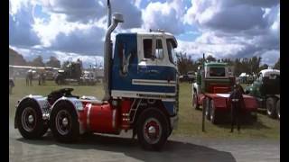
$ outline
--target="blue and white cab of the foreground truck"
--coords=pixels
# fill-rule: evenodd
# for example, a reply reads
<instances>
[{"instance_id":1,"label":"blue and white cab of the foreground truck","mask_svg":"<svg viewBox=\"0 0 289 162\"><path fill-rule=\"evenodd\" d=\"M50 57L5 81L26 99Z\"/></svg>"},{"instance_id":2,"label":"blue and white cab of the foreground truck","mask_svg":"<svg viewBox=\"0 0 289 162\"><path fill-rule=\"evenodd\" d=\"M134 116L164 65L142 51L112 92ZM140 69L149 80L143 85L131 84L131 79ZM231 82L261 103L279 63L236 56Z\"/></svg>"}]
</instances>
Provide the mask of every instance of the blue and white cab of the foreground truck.
<instances>
[{"instance_id":1,"label":"blue and white cab of the foreground truck","mask_svg":"<svg viewBox=\"0 0 289 162\"><path fill-rule=\"evenodd\" d=\"M167 32L117 35L111 75L111 96L162 100L173 115L177 109L177 42Z\"/></svg>"}]
</instances>

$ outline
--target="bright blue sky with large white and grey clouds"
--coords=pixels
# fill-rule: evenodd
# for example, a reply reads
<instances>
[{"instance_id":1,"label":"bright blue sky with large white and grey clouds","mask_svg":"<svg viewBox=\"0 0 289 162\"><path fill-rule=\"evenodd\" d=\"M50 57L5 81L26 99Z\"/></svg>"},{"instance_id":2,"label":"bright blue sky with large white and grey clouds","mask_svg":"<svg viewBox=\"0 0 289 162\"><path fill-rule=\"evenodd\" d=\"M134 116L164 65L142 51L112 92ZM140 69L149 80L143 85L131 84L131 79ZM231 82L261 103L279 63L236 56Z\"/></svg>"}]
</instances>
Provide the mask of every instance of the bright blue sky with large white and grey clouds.
<instances>
[{"instance_id":1,"label":"bright blue sky with large white and grey clouds","mask_svg":"<svg viewBox=\"0 0 289 162\"><path fill-rule=\"evenodd\" d=\"M110 0L119 32L163 29L196 59L280 57L280 0ZM107 0L9 0L9 47L32 60L80 58L103 65Z\"/></svg>"}]
</instances>

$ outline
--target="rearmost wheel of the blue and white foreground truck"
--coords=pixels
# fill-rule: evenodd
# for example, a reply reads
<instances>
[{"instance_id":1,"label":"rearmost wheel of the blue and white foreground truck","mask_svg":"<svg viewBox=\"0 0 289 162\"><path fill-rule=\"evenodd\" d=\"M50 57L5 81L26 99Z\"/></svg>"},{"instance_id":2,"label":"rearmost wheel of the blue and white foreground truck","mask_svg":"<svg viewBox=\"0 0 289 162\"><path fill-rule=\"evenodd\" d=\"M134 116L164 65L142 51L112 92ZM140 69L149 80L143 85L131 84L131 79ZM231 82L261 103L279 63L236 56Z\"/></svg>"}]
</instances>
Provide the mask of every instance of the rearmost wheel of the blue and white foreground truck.
<instances>
[{"instance_id":1,"label":"rearmost wheel of the blue and white foreground truck","mask_svg":"<svg viewBox=\"0 0 289 162\"><path fill-rule=\"evenodd\" d=\"M37 103L29 101L22 103L17 109L16 117L18 130L25 139L38 139L48 130Z\"/></svg>"}]
</instances>

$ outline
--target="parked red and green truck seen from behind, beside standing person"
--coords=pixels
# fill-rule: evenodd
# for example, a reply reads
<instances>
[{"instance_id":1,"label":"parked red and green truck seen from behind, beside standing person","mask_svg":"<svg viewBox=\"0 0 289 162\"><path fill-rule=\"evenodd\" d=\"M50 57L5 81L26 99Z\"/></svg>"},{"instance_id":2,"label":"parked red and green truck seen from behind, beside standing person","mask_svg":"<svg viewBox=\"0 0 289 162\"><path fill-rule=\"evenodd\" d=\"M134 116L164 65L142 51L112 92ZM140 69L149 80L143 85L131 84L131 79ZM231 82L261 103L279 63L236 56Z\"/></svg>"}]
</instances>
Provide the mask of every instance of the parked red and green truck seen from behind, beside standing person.
<instances>
[{"instance_id":1,"label":"parked red and green truck seen from behind, beside standing person","mask_svg":"<svg viewBox=\"0 0 289 162\"><path fill-rule=\"evenodd\" d=\"M230 119L228 96L235 84L235 77L229 74L227 63L205 62L198 67L196 83L192 84L192 106L199 109L202 105L206 118L214 124ZM255 98L247 94L243 94L243 97L245 109L242 114L256 120Z\"/></svg>"}]
</instances>

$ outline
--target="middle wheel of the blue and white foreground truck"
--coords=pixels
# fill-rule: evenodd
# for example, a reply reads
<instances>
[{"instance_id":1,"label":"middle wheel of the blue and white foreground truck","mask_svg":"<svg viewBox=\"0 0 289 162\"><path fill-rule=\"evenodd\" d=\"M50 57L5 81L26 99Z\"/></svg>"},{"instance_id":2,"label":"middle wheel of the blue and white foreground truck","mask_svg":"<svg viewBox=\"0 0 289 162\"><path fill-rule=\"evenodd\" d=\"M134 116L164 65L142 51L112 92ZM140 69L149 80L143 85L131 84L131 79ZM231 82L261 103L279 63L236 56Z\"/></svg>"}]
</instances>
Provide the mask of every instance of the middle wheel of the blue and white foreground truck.
<instances>
[{"instance_id":1,"label":"middle wheel of the blue and white foreground truck","mask_svg":"<svg viewBox=\"0 0 289 162\"><path fill-rule=\"evenodd\" d=\"M59 103L52 109L50 127L53 137L60 142L79 139L78 114L69 103Z\"/></svg>"}]
</instances>

